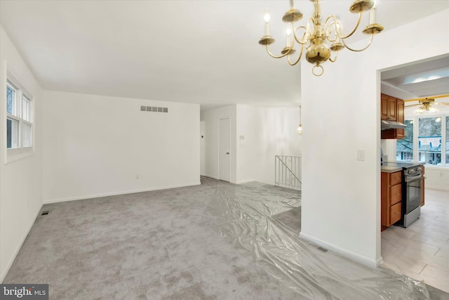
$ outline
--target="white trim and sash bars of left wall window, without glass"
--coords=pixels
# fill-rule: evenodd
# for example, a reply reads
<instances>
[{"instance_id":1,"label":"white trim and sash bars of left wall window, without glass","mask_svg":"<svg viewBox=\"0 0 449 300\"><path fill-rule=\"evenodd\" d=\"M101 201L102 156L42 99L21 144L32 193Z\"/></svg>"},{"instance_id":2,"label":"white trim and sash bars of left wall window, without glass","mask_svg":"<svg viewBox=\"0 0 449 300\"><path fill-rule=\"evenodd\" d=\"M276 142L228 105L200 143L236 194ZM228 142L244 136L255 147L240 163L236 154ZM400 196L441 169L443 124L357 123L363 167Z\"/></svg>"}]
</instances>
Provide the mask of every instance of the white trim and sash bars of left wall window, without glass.
<instances>
[{"instance_id":1,"label":"white trim and sash bars of left wall window, without glass","mask_svg":"<svg viewBox=\"0 0 449 300\"><path fill-rule=\"evenodd\" d=\"M8 69L6 68L6 62L5 62L5 69L6 69L6 80L3 82L3 84L1 84L1 89L3 91L3 95L4 95L4 99L1 102L1 105L3 105L3 107L5 108L5 113L1 118L1 122L4 122L4 164L9 164L11 162L16 162L20 159L25 159L26 157L30 157L32 155L34 155L35 153L35 144L36 144L36 138L34 135L35 132L35 105L34 105L34 96L32 95L32 93L29 93L29 91L27 89L25 89L25 87L20 84L20 80L16 79L16 77L14 77L13 74L11 74L11 72L8 72ZM4 74L5 74L4 73ZM10 81L11 84L13 84L13 86L15 86L16 88L16 93L18 93L18 95L16 95L16 103L15 103L15 110L17 113L17 116L15 115L11 115L8 114L8 112L6 112L6 84L7 82ZM29 100L30 104L32 105L32 122L27 122L24 119L22 119L22 95L25 94L25 96L27 97L27 99ZM11 118L11 119L15 119L18 120L20 122L19 124L19 148L7 148L7 143L6 143L6 119L7 118ZM22 147L22 126L23 124L31 124L32 125L32 145L30 147Z\"/></svg>"}]
</instances>

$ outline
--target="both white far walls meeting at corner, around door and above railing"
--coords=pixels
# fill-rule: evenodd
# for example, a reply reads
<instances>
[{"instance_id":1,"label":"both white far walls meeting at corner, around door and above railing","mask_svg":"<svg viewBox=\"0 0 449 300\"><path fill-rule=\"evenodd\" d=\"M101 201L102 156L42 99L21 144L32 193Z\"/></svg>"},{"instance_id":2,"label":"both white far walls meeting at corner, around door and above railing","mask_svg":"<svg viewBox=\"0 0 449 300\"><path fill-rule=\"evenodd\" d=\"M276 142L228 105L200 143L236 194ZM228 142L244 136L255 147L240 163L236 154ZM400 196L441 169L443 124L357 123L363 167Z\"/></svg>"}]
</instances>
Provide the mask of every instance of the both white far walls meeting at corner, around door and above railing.
<instances>
[{"instance_id":1,"label":"both white far walls meeting at corner, around door and above railing","mask_svg":"<svg viewBox=\"0 0 449 300\"><path fill-rule=\"evenodd\" d=\"M218 119L231 122L231 182L274 184L274 155L301 156L299 107L232 105L201 113L204 123L201 175L218 178Z\"/></svg>"}]
</instances>

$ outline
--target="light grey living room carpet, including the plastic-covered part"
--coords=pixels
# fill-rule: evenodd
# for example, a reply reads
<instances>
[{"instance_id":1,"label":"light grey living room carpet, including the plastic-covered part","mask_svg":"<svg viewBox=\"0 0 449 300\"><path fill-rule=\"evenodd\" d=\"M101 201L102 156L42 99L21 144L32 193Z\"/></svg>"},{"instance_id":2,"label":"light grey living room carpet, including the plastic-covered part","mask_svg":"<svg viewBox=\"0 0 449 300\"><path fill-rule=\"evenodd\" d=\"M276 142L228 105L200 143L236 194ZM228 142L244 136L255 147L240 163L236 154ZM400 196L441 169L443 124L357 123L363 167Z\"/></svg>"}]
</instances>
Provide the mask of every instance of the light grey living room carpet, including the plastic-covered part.
<instances>
[{"instance_id":1,"label":"light grey living room carpet, including the plastic-covered part","mask_svg":"<svg viewBox=\"0 0 449 300\"><path fill-rule=\"evenodd\" d=\"M48 283L50 299L428 297L420 282L320 252L272 218L300 206L297 191L201 182L46 204L4 283Z\"/></svg>"}]
</instances>

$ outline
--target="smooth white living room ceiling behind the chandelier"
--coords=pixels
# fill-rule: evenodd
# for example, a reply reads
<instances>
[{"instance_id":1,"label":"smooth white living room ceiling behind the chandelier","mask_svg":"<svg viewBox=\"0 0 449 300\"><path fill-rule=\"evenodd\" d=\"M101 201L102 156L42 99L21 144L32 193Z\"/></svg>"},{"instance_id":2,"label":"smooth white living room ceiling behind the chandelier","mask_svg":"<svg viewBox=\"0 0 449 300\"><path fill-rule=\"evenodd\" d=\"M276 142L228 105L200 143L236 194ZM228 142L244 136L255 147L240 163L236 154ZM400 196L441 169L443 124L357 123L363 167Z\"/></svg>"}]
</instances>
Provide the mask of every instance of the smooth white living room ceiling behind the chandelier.
<instances>
[{"instance_id":1,"label":"smooth white living room ceiling behind the chandelier","mask_svg":"<svg viewBox=\"0 0 449 300\"><path fill-rule=\"evenodd\" d=\"M310 1L295 3L311 15ZM322 1L323 16L335 13L349 29L351 3ZM43 89L200 103L201 110L297 105L300 67L257 44L266 8L279 52L287 0L1 0L0 23ZM378 1L377 22L389 30L447 8L449 1Z\"/></svg>"}]
</instances>

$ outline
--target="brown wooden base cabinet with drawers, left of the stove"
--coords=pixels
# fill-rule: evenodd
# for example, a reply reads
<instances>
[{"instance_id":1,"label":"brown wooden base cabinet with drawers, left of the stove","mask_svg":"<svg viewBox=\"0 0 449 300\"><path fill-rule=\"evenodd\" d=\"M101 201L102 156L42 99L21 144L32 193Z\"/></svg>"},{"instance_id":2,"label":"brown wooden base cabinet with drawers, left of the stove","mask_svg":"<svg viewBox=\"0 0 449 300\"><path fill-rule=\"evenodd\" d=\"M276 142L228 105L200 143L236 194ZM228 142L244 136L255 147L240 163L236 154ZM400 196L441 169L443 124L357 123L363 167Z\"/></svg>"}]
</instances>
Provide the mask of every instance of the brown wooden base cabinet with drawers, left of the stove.
<instances>
[{"instance_id":1,"label":"brown wooden base cabinet with drawers, left of the stove","mask_svg":"<svg viewBox=\"0 0 449 300\"><path fill-rule=\"evenodd\" d=\"M380 223L381 230L401 220L402 172L381 173Z\"/></svg>"}]
</instances>

